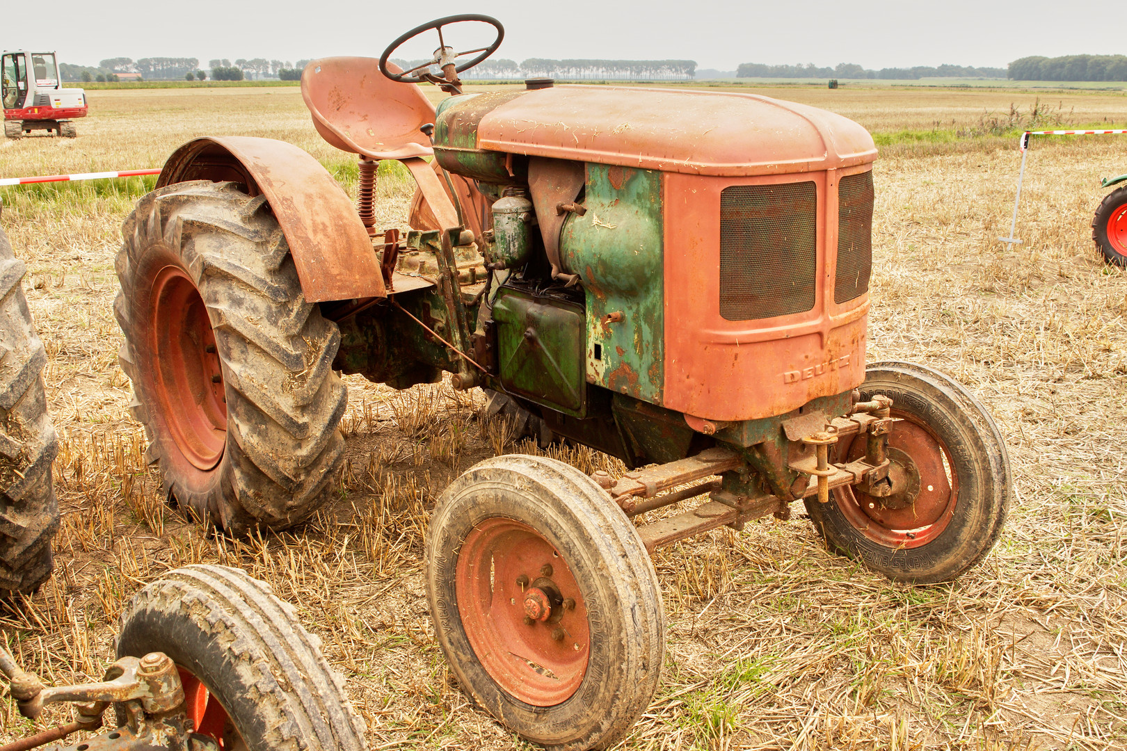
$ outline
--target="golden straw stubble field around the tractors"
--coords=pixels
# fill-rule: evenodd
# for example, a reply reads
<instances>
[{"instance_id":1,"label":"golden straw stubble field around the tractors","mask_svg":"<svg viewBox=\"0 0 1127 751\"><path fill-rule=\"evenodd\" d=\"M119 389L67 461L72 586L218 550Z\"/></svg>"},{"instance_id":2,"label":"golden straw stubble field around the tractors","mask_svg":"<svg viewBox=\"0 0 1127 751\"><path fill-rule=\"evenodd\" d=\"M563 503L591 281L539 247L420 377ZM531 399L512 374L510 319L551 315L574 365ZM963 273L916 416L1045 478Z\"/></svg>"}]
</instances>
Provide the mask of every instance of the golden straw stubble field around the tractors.
<instances>
[{"instance_id":1,"label":"golden straw stubble field around the tractors","mask_svg":"<svg viewBox=\"0 0 1127 751\"><path fill-rule=\"evenodd\" d=\"M854 117L888 144L876 168L869 357L940 368L978 395L1009 445L1013 506L983 565L940 587L891 584L829 555L801 515L658 553L663 685L624 748L1127 746L1127 275L1099 261L1089 229L1098 178L1127 171L1127 138L1035 142L1024 243L1006 247L996 238L1009 229L1017 140L992 135L983 115L1004 118L1013 92L763 91ZM355 188L352 159L318 138L295 90L90 98L77 140L0 143L0 175L159 166L192 136L247 134L296 143ZM1062 124L1127 119L1122 95L1053 104ZM0 194L50 356L63 509L56 574L5 606L5 638L47 680L100 678L134 591L183 564L237 565L320 635L373 749L522 746L458 690L420 572L445 484L486 456L535 449L479 421L480 396L349 377L331 508L243 540L187 524L143 464L116 359L118 227L147 185ZM382 176L381 225L403 222L409 189ZM565 458L621 470L585 449ZM29 731L10 703L0 709L3 737Z\"/></svg>"}]
</instances>

